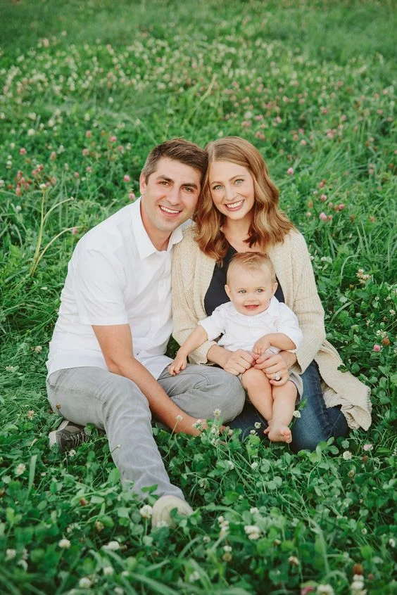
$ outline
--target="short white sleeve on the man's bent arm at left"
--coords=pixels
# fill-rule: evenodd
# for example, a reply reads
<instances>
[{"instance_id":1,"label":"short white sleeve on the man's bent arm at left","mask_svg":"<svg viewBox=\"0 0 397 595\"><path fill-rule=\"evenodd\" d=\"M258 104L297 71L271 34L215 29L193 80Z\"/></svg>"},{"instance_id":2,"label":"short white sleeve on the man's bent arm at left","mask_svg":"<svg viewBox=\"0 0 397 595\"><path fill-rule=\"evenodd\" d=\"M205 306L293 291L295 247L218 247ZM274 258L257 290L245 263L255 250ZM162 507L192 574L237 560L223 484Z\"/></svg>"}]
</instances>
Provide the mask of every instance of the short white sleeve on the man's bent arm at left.
<instances>
[{"instance_id":1,"label":"short white sleeve on the man's bent arm at left","mask_svg":"<svg viewBox=\"0 0 397 595\"><path fill-rule=\"evenodd\" d=\"M80 323L128 324L121 264L98 250L84 250L75 263L73 293Z\"/></svg>"}]
</instances>

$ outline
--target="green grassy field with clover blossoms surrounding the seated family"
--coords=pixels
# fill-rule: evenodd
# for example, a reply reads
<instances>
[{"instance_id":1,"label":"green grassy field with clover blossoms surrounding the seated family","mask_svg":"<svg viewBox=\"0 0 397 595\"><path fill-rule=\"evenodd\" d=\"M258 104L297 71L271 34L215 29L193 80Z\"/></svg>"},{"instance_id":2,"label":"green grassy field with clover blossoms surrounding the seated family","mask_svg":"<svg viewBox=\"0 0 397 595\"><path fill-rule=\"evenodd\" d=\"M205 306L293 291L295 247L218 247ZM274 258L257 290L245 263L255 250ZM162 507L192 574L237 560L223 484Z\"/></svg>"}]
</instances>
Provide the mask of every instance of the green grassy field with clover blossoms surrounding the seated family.
<instances>
[{"instance_id":1,"label":"green grassy field with clover blossoms surrounding the seated family","mask_svg":"<svg viewBox=\"0 0 397 595\"><path fill-rule=\"evenodd\" d=\"M2 593L397 593L396 20L382 0L0 0ZM308 242L373 423L298 455L155 428L196 513L151 530L94 428L49 451L47 346L75 244L148 151L229 134Z\"/></svg>"}]
</instances>

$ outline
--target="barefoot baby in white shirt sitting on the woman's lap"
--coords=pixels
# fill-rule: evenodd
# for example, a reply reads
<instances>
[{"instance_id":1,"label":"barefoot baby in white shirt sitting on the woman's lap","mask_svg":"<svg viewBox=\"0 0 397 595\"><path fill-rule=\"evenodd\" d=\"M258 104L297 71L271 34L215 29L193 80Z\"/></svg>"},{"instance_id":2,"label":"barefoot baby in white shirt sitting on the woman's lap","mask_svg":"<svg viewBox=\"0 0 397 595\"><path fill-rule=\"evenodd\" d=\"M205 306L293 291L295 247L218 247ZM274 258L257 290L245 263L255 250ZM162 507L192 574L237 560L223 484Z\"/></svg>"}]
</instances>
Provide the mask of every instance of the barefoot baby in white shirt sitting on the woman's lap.
<instances>
[{"instance_id":1,"label":"barefoot baby in white shirt sitting on the woman's lap","mask_svg":"<svg viewBox=\"0 0 397 595\"><path fill-rule=\"evenodd\" d=\"M230 351L244 349L258 359L266 352L296 352L302 333L294 312L274 297L277 289L275 269L267 255L238 252L227 269L226 293L230 302L218 306L179 348L169 371L172 376L187 365L189 353L206 340L215 340ZM291 442L289 429L302 380L291 372L287 380L272 385L265 371L251 367L241 376L251 403L267 420L265 433L274 442ZM280 380L279 374L271 375Z\"/></svg>"}]
</instances>

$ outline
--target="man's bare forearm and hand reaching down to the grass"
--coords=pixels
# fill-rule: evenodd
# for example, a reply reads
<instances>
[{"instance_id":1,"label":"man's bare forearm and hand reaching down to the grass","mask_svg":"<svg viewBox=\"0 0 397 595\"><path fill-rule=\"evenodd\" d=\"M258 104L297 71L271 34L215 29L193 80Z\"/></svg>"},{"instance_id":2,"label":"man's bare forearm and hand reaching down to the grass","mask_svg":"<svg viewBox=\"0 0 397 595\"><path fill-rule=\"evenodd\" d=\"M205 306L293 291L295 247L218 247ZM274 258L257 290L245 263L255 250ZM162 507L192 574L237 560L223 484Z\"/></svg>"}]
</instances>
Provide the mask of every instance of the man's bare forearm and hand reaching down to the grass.
<instances>
[{"instance_id":1,"label":"man's bare forearm and hand reaching down to the grass","mask_svg":"<svg viewBox=\"0 0 397 595\"><path fill-rule=\"evenodd\" d=\"M168 428L175 428L175 432L191 435L200 433L192 426L196 423L196 418L179 409L145 366L134 358L132 334L128 324L92 326L92 328L108 370L130 378L148 399L149 407L156 418L165 423ZM182 420L178 421L177 416L181 416Z\"/></svg>"}]
</instances>

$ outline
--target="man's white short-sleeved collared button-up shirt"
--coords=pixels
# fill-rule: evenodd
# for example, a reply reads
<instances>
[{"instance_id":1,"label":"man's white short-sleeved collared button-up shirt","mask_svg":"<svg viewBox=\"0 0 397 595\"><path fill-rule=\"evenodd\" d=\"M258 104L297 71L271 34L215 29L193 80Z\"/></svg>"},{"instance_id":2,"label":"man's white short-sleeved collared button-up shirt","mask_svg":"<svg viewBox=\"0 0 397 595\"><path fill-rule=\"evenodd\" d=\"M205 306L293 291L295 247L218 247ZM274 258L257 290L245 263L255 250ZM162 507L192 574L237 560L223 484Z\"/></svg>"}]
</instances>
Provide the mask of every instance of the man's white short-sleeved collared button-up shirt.
<instances>
[{"instance_id":1,"label":"man's white short-sleeved collared button-up shirt","mask_svg":"<svg viewBox=\"0 0 397 595\"><path fill-rule=\"evenodd\" d=\"M129 324L134 357L158 378L172 362L165 357L172 332L172 246L182 228L159 252L144 229L141 199L88 231L68 264L58 321L46 363L63 368L107 369L92 325Z\"/></svg>"}]
</instances>

